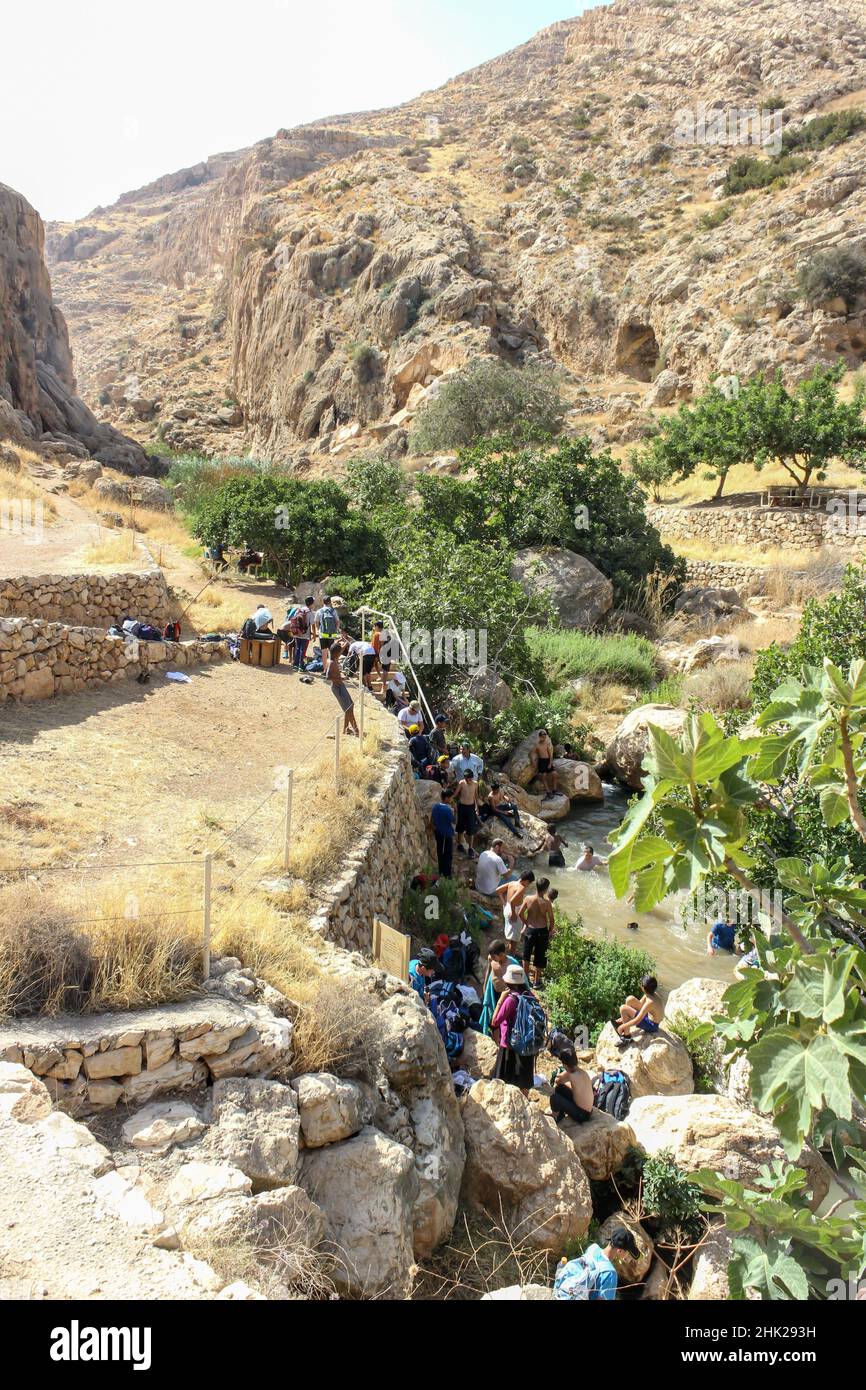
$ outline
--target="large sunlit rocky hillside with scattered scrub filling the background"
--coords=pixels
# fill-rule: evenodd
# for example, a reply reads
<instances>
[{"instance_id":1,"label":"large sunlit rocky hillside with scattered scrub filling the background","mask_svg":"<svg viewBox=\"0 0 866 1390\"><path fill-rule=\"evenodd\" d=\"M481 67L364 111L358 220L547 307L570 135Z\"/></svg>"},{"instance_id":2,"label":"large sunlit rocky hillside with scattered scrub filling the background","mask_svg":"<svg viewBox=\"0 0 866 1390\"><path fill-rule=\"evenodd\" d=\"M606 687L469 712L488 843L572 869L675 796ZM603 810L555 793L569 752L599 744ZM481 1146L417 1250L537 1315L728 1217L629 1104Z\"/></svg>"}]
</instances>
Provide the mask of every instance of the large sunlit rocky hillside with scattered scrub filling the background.
<instances>
[{"instance_id":1,"label":"large sunlit rocky hillside with scattered scrub filling the background","mask_svg":"<svg viewBox=\"0 0 866 1390\"><path fill-rule=\"evenodd\" d=\"M85 396L146 442L331 467L405 453L478 353L559 363L570 425L612 443L720 371L859 367L858 303L808 306L796 272L863 242L866 129L727 196L730 164L769 154L708 140L701 113L795 132L860 107L858 0L614 0L51 227Z\"/></svg>"}]
</instances>

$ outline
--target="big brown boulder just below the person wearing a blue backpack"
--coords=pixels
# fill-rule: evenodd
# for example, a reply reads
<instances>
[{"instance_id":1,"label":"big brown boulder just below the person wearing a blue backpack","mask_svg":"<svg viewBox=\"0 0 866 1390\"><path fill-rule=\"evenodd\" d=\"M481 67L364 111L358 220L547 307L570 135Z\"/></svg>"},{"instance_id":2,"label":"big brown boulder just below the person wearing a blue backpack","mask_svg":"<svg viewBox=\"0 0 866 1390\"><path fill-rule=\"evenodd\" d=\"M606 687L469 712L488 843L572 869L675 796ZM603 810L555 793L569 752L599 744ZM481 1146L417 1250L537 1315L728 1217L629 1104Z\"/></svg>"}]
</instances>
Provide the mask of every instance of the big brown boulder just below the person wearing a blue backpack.
<instances>
[{"instance_id":1,"label":"big brown boulder just below the person wearing a blue backpack","mask_svg":"<svg viewBox=\"0 0 866 1390\"><path fill-rule=\"evenodd\" d=\"M477 1081L461 1102L463 1198L505 1213L514 1238L562 1254L592 1218L589 1182L574 1145L516 1086Z\"/></svg>"}]
</instances>

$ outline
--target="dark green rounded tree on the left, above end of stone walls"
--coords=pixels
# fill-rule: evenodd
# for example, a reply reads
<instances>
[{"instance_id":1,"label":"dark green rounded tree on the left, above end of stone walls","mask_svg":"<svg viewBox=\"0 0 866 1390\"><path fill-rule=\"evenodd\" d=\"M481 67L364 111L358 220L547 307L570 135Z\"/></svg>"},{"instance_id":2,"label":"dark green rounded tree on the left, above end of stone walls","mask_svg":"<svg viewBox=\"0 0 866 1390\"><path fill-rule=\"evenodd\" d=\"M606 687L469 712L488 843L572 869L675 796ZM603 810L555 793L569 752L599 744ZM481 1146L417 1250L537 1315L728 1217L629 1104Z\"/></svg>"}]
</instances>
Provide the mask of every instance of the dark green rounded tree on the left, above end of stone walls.
<instances>
[{"instance_id":1,"label":"dark green rounded tree on the left, above end of stone walls","mask_svg":"<svg viewBox=\"0 0 866 1390\"><path fill-rule=\"evenodd\" d=\"M349 506L336 482L303 482L278 474L229 478L200 499L193 535L204 545L261 550L264 566L284 584L334 570L377 573L384 566L375 528Z\"/></svg>"}]
</instances>

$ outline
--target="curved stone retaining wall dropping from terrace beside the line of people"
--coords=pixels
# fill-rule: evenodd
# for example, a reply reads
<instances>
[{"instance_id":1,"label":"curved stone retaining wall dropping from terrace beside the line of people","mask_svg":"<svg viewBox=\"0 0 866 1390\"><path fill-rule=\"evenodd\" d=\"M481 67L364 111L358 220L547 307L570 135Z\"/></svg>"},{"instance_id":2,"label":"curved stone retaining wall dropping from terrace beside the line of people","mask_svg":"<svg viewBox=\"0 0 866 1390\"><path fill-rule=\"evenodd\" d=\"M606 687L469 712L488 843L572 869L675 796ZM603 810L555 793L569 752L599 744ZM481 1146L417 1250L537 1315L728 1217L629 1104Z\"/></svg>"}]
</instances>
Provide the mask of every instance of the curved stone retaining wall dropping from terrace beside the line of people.
<instances>
[{"instance_id":1,"label":"curved stone retaining wall dropping from terrace beside the line of people","mask_svg":"<svg viewBox=\"0 0 866 1390\"><path fill-rule=\"evenodd\" d=\"M382 783L370 799L370 826L345 855L339 878L322 888L325 906L310 923L350 951L370 951L374 916L399 927L406 877L430 858L406 735L384 712L381 730Z\"/></svg>"}]
</instances>

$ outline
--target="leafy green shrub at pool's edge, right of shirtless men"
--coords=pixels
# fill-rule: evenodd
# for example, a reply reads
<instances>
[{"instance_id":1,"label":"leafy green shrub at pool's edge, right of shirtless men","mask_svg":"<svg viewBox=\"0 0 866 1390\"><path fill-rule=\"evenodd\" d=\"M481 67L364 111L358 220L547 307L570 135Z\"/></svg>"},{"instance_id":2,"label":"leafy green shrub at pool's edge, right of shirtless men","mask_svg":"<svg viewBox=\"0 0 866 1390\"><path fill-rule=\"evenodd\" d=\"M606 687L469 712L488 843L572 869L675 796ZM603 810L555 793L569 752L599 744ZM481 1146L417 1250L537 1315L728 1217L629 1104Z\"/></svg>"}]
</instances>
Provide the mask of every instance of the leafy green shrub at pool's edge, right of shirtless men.
<instances>
[{"instance_id":1,"label":"leafy green shrub at pool's edge, right of shirtless men","mask_svg":"<svg viewBox=\"0 0 866 1390\"><path fill-rule=\"evenodd\" d=\"M653 972L655 960L645 951L607 938L595 941L580 917L557 913L542 991L550 1022L567 1033L585 1024L589 1041L596 1042L626 998L641 994L641 977Z\"/></svg>"}]
</instances>

